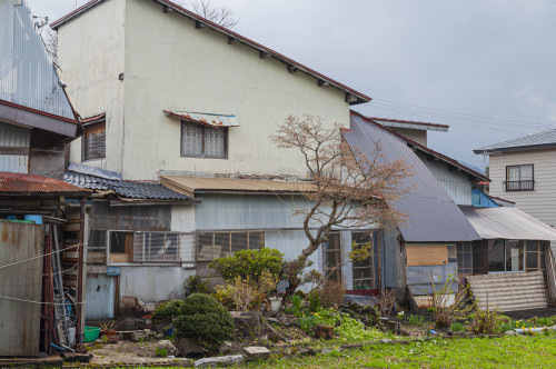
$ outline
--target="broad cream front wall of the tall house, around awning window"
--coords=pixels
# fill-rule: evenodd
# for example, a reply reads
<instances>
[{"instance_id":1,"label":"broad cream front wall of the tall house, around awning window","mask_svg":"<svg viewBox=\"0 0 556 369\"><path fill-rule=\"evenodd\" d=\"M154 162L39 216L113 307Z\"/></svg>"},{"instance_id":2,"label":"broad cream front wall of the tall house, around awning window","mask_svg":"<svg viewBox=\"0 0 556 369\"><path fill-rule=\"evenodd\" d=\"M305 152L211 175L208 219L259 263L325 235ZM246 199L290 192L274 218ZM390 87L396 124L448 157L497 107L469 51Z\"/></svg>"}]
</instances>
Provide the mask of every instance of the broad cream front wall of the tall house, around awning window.
<instances>
[{"instance_id":1,"label":"broad cream front wall of the tall house, around awning window","mask_svg":"<svg viewBox=\"0 0 556 369\"><path fill-rule=\"evenodd\" d=\"M198 30L152 1L128 0L126 10L126 179L156 179L159 170L305 176L295 152L271 144L276 124L305 112L348 123L338 89L290 74L284 63L230 46L226 36ZM180 121L163 109L236 114L240 127L229 129L228 159L181 158Z\"/></svg>"}]
</instances>

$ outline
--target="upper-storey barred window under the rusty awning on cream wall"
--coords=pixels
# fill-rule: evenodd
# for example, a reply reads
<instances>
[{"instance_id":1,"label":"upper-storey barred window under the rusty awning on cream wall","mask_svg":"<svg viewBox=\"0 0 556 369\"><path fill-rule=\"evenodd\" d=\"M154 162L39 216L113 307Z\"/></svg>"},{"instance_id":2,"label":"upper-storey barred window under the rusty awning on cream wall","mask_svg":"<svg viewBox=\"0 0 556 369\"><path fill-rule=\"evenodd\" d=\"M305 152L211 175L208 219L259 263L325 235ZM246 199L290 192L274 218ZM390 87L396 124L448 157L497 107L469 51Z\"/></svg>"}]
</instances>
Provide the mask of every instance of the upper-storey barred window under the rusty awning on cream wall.
<instances>
[{"instance_id":1,"label":"upper-storey barred window under the rusty awning on cream wall","mask_svg":"<svg viewBox=\"0 0 556 369\"><path fill-rule=\"evenodd\" d=\"M228 158L228 128L181 121L181 156Z\"/></svg>"}]
</instances>

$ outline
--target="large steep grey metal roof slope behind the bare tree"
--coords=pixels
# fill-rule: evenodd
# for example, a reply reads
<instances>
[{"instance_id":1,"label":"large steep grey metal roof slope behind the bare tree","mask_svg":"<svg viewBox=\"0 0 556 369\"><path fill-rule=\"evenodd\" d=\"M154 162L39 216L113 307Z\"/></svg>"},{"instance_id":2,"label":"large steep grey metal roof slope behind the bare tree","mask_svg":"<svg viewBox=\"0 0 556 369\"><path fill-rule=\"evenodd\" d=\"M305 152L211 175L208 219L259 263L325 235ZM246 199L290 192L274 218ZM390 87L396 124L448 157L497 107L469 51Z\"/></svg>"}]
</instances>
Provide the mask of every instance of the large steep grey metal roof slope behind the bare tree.
<instances>
[{"instance_id":1,"label":"large steep grey metal roof slope behind the bare tree","mask_svg":"<svg viewBox=\"0 0 556 369\"><path fill-rule=\"evenodd\" d=\"M408 222L398 225L407 242L456 242L480 239L450 196L438 183L425 163L408 148L406 139L387 129L369 123L365 117L351 114L350 131L344 138L350 147L368 152L380 142L384 157L380 160L405 159L415 174L403 186L416 186L400 200L390 206L408 216Z\"/></svg>"}]
</instances>

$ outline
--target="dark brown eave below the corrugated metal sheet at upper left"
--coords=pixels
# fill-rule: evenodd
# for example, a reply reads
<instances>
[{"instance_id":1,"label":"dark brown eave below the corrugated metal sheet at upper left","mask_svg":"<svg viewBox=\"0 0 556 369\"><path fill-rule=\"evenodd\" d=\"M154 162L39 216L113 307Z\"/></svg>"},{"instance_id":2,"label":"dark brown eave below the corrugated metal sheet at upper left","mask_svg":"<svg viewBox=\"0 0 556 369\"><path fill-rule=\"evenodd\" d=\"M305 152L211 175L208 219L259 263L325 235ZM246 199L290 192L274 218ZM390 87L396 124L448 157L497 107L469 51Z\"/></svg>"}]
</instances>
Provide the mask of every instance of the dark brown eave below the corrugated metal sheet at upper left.
<instances>
[{"instance_id":1,"label":"dark brown eave below the corrugated metal sheet at upper left","mask_svg":"<svg viewBox=\"0 0 556 369\"><path fill-rule=\"evenodd\" d=\"M13 102L0 100L0 119L27 128L38 128L67 137L77 137L82 127L75 119L56 116Z\"/></svg>"}]
</instances>

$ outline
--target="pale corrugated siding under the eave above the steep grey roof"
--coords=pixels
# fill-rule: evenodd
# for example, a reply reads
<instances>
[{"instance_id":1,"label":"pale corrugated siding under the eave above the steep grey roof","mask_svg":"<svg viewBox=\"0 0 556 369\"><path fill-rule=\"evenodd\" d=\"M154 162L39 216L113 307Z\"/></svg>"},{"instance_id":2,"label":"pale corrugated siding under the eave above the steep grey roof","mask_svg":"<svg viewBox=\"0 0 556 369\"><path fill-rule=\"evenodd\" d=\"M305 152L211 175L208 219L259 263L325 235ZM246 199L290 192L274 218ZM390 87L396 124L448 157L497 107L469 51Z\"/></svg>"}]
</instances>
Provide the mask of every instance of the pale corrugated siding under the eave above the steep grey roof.
<instances>
[{"instance_id":1,"label":"pale corrugated siding under the eave above the steep grey roof","mask_svg":"<svg viewBox=\"0 0 556 369\"><path fill-rule=\"evenodd\" d=\"M457 205L471 205L473 187L467 173L449 171L447 163L439 160L428 160L421 152L417 156Z\"/></svg>"}]
</instances>

